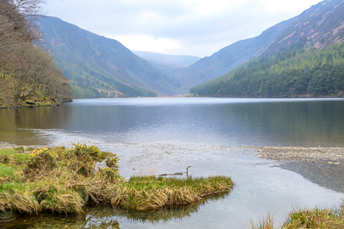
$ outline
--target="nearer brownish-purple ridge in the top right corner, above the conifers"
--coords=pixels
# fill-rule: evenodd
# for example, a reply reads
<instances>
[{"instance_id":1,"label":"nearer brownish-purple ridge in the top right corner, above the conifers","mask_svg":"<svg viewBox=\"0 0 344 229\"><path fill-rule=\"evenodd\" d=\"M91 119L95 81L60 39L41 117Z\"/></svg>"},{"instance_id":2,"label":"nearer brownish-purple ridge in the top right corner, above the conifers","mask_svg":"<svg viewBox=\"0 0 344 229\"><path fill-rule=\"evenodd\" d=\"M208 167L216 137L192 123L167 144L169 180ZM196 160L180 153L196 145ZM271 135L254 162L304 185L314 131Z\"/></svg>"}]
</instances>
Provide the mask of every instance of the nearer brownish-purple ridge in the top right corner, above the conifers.
<instances>
[{"instance_id":1,"label":"nearer brownish-purple ridge in the top right corner, above the conifers","mask_svg":"<svg viewBox=\"0 0 344 229\"><path fill-rule=\"evenodd\" d=\"M313 47L326 47L344 41L344 1L327 0L312 6L297 17L292 26L276 39L264 56L288 49L299 39Z\"/></svg>"}]
</instances>

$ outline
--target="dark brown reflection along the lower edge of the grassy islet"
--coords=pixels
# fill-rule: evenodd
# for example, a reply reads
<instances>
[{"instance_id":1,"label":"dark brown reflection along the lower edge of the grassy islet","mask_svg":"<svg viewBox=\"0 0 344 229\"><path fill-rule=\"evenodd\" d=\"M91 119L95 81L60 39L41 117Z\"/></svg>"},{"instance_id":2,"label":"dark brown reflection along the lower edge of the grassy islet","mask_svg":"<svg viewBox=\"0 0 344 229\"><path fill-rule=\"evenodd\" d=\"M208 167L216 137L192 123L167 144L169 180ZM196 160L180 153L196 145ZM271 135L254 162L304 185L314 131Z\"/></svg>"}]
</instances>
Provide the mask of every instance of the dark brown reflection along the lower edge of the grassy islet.
<instances>
[{"instance_id":1,"label":"dark brown reflection along the lower edge of the grassy islet","mask_svg":"<svg viewBox=\"0 0 344 229\"><path fill-rule=\"evenodd\" d=\"M170 205L158 210L133 211L109 206L88 206L85 214L52 215L40 214L21 217L9 223L0 223L1 228L120 228L120 221L133 223L166 223L172 219L182 220L197 214L200 206L208 201L223 199L227 194L213 195L197 204Z\"/></svg>"}]
</instances>

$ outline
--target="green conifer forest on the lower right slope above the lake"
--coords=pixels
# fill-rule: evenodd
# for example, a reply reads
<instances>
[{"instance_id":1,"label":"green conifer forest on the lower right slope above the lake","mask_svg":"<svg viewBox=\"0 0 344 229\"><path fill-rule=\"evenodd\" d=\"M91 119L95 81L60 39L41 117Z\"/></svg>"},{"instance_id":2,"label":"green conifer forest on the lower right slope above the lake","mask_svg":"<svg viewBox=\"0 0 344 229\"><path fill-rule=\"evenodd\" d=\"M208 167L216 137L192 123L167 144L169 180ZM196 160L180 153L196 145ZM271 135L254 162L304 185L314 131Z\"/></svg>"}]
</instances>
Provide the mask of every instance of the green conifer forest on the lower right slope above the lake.
<instances>
[{"instance_id":1,"label":"green conifer forest on the lower right slope above the lake","mask_svg":"<svg viewBox=\"0 0 344 229\"><path fill-rule=\"evenodd\" d=\"M295 97L344 94L344 43L259 58L191 89L199 96Z\"/></svg>"}]
</instances>

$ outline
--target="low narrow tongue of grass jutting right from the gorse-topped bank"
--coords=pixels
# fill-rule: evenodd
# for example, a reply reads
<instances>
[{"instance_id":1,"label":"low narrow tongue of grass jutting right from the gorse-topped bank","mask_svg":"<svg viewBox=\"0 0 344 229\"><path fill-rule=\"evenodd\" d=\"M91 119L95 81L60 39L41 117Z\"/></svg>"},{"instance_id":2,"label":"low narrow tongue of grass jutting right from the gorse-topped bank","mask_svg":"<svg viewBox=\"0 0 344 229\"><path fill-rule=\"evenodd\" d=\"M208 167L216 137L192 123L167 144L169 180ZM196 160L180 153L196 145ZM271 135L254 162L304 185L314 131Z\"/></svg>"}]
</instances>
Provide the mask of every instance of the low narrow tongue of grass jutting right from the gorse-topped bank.
<instances>
[{"instance_id":1,"label":"low narrow tongue of grass jutting right from the gorse-topped bank","mask_svg":"<svg viewBox=\"0 0 344 229\"><path fill-rule=\"evenodd\" d=\"M228 193L234 186L230 177L176 179L131 177L128 182L118 179L116 185L94 180L87 187L95 201L133 210L149 210L171 204L192 204L208 195Z\"/></svg>"}]
</instances>

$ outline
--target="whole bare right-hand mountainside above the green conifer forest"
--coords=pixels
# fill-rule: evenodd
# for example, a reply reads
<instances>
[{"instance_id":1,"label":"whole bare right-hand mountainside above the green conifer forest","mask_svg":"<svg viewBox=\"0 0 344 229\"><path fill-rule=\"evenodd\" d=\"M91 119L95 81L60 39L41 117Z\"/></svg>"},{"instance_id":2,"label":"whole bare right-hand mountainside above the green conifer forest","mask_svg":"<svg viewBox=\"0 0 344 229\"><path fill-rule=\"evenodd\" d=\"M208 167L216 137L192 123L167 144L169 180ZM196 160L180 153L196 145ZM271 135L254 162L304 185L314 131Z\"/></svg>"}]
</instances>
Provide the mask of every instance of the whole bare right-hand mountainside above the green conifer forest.
<instances>
[{"instance_id":1,"label":"whole bare right-hand mountainside above the green conifer forest","mask_svg":"<svg viewBox=\"0 0 344 229\"><path fill-rule=\"evenodd\" d=\"M343 0L327 0L302 14L283 21L251 39L224 47L212 56L202 58L190 67L177 69L175 80L184 87L193 87L222 76L251 58L271 56L304 40L314 47L343 42ZM300 44L300 43L299 43Z\"/></svg>"}]
</instances>

